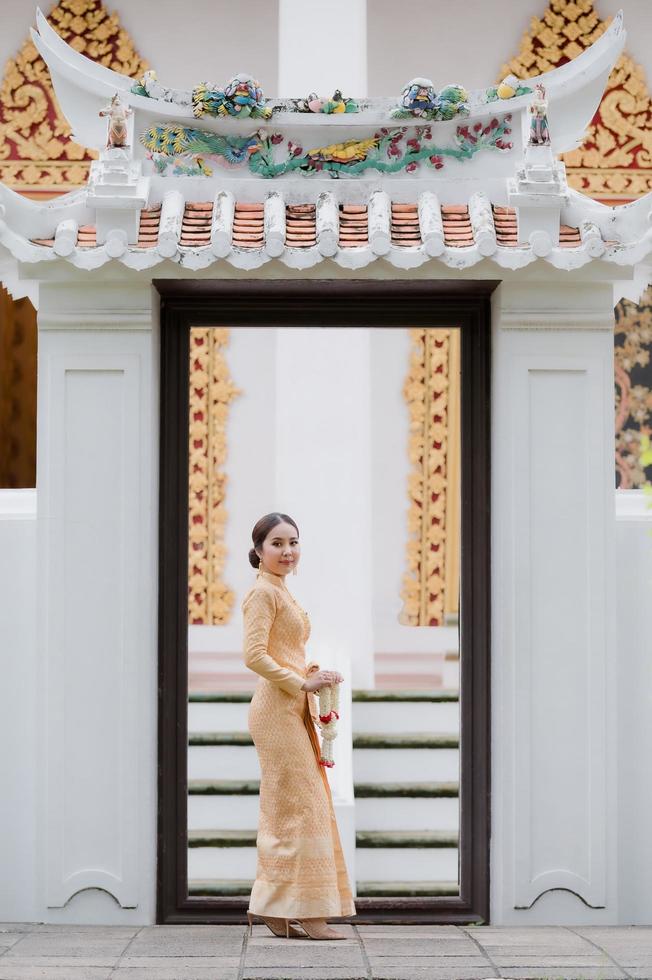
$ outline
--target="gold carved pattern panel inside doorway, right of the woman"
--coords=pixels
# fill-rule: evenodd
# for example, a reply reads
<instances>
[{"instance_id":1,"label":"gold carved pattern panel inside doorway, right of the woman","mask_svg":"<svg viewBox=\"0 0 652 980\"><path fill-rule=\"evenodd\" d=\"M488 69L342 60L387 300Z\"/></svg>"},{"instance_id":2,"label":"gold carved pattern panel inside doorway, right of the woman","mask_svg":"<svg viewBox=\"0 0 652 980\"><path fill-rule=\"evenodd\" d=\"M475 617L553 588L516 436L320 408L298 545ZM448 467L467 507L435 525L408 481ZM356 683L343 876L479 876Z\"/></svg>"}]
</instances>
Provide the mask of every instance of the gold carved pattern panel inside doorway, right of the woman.
<instances>
[{"instance_id":1,"label":"gold carved pattern panel inside doorway, right of the woman","mask_svg":"<svg viewBox=\"0 0 652 980\"><path fill-rule=\"evenodd\" d=\"M406 572L399 622L441 626L446 613L448 439L451 345L449 329L411 329L411 351L403 398L409 411L409 507ZM457 595L457 582L452 585ZM456 601L452 604L456 609Z\"/></svg>"}]
</instances>

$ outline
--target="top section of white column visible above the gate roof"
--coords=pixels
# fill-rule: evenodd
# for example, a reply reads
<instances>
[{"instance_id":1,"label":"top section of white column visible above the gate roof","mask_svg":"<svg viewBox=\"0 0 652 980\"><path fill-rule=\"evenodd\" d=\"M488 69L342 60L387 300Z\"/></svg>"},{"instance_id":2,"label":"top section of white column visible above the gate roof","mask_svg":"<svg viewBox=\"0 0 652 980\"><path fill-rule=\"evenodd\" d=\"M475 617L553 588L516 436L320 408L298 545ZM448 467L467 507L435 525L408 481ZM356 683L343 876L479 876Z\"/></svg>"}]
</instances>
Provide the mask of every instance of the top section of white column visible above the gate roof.
<instances>
[{"instance_id":1,"label":"top section of white column visible above the gate roof","mask_svg":"<svg viewBox=\"0 0 652 980\"><path fill-rule=\"evenodd\" d=\"M367 94L366 0L279 0L278 96Z\"/></svg>"}]
</instances>

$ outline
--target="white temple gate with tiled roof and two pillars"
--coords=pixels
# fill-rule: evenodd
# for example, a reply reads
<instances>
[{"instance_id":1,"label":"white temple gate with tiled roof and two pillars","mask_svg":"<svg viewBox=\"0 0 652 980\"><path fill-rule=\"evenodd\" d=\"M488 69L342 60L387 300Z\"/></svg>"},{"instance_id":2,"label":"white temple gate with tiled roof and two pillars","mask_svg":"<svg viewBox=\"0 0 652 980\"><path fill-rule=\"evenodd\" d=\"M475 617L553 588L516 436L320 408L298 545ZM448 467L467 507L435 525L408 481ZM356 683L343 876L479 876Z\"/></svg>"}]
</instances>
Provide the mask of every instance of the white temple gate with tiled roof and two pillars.
<instances>
[{"instance_id":1,"label":"white temple gate with tiled roof and two pillars","mask_svg":"<svg viewBox=\"0 0 652 980\"><path fill-rule=\"evenodd\" d=\"M12 668L14 710L29 716L33 742L5 762L7 785L23 793L9 796L2 816L15 846L0 918L156 921L157 500L160 481L172 475L158 468L153 280L229 280L246 289L252 279L327 279L334 288L349 280L500 280L492 293L487 501L490 921L649 921L652 855L640 822L649 797L649 697L643 683L628 681L625 700L618 684L625 656L634 673L641 664L617 636L612 332L614 283L635 296L650 252L650 200L596 204L568 189L554 159L581 139L624 43L620 20L568 70L544 77L552 145L528 138L532 91L471 97L463 119L451 110L450 119L429 121L409 100L400 121L387 100L360 100L334 119L286 100L274 116L260 102L249 122L228 113L197 121L183 93L134 93L131 79L68 49L42 18L39 31L79 139L104 146L98 105L116 90L133 115L130 147L116 141L105 150L87 190L36 204L0 187L4 280L15 296L38 284L39 322L37 503L23 515L35 517L36 535L29 519L2 529L18 556L2 600L21 654ZM164 138L168 124L178 130ZM191 127L203 131L207 152L193 151ZM399 130L400 156L392 151ZM168 152L175 139L178 159ZM319 150L304 153L307 146ZM234 169L209 173L210 153L235 155ZM292 161L304 157L301 172ZM335 164L338 180L329 177ZM192 202L210 203L210 225L201 241L184 244ZM286 209L308 203L314 244L288 244ZM405 245L393 233L392 205L409 203L418 242ZM238 220L242 205L256 204L258 230ZM366 229L347 243L347 214L361 213L351 206L364 208ZM450 206L468 227L460 240L446 229ZM151 237L140 232L148 211L159 215ZM342 431L352 412L365 410L368 352L346 331L340 337L361 378L359 401L334 419ZM299 331L288 329L287 340L283 356L299 357ZM325 331L320 356L337 364L335 343ZM357 420L363 431L364 417ZM293 447L278 449L279 472L293 472ZM367 477L355 458L342 460L343 503ZM316 522L326 489L315 491ZM277 487L279 499L313 490L309 480ZM369 587L369 548L364 514L352 509L350 519L363 525L351 558L360 574L324 574L354 607ZM32 584L34 611L24 600ZM364 620L355 623L352 658L368 649ZM361 654L342 667L361 684L370 663ZM341 773L346 780L345 765ZM346 826L350 786L337 790ZM33 825L27 812L36 814Z\"/></svg>"}]
</instances>

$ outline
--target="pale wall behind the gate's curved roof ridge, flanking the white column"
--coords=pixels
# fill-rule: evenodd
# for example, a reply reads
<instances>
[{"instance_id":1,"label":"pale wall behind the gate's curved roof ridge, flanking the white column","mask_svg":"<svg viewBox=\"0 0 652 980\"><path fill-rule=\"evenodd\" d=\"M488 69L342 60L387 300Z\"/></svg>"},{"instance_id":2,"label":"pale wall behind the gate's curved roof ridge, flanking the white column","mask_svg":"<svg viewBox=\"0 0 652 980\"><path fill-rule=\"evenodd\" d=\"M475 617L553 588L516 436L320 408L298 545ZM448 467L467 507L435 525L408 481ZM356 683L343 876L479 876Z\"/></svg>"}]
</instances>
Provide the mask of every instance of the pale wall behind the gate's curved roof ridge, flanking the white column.
<instances>
[{"instance_id":1,"label":"pale wall behind the gate's curved roof ridge, flanking the white column","mask_svg":"<svg viewBox=\"0 0 652 980\"><path fill-rule=\"evenodd\" d=\"M41 4L47 12L52 4ZM475 88L492 84L503 63L518 54L521 35L532 17L541 17L547 0L467 0L463 13L451 15L446 0L368 0L368 87L370 96L399 94L415 75L428 75L435 85L463 82ZM278 93L278 2L251 0L241 6L227 0L193 0L181 7L174 0L111 0L141 55L171 85L199 81L223 83L232 74L250 71L269 95ZM652 28L649 0L595 0L601 18L622 7L628 33L627 50L642 65L652 87ZM36 0L2 0L0 64L12 57L34 21ZM306 45L319 38L323 52L323 14L307 0L299 30ZM341 21L347 30L346 18ZM332 56L337 59L335 52ZM335 71L335 74L337 72ZM343 84L343 83L340 83ZM306 77L307 95L314 81ZM345 92L360 95L359 91Z\"/></svg>"}]
</instances>

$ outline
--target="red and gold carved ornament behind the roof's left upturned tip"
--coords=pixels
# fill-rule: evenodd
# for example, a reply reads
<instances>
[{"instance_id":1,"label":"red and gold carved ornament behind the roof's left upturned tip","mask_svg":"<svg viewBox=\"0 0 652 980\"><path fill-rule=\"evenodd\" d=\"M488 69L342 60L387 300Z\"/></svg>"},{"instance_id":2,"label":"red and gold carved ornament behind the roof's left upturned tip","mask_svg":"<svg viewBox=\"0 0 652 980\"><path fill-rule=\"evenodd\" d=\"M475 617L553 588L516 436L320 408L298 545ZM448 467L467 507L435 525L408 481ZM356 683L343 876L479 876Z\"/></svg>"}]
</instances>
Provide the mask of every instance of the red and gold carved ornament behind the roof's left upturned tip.
<instances>
[{"instance_id":1,"label":"red and gold carved ornament behind the roof's left upturned tip","mask_svg":"<svg viewBox=\"0 0 652 980\"><path fill-rule=\"evenodd\" d=\"M140 77L149 67L100 0L59 0L48 20L76 51L107 68ZM48 69L28 39L7 62L0 87L0 181L27 194L56 194L85 184L96 156L70 139Z\"/></svg>"}]
</instances>

